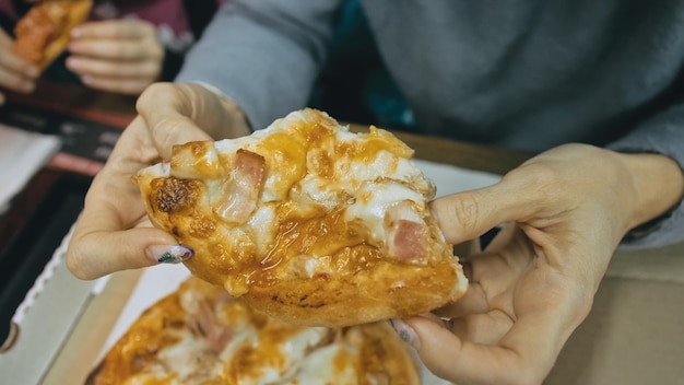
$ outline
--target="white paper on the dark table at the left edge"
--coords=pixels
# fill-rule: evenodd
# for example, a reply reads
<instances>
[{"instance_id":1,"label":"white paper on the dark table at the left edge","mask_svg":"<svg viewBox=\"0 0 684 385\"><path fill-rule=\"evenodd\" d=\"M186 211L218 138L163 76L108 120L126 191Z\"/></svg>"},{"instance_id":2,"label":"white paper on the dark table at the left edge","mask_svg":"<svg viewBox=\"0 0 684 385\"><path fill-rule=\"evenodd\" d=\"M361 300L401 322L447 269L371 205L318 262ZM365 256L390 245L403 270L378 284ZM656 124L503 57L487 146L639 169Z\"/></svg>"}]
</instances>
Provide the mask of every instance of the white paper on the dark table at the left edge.
<instances>
[{"instance_id":1,"label":"white paper on the dark table at the left edge","mask_svg":"<svg viewBox=\"0 0 684 385\"><path fill-rule=\"evenodd\" d=\"M59 150L56 136L31 132L0 124L0 214L12 198Z\"/></svg>"}]
</instances>

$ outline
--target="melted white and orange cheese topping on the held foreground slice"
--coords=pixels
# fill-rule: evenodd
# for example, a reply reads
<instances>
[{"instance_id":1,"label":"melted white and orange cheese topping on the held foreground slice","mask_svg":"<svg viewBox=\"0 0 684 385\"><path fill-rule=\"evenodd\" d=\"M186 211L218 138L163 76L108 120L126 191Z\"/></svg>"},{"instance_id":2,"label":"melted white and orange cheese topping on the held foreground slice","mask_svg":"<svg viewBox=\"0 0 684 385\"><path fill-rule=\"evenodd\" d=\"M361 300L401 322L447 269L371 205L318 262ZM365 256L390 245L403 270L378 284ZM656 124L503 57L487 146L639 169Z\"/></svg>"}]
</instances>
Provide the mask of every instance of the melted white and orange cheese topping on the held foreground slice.
<instances>
[{"instance_id":1,"label":"melted white and orange cheese topping on the held foreground slice","mask_svg":"<svg viewBox=\"0 0 684 385\"><path fill-rule=\"evenodd\" d=\"M228 244L225 247L225 250L229 250L227 253L234 253L247 243L256 247L252 256L244 253L240 258L226 257L227 265L233 267L257 267L268 261L269 256L279 249L279 232L288 225L312 229L315 242L326 246L318 247L319 256L328 256L345 246L364 242L354 236L342 238L349 231L344 223L334 223L333 210L340 208L346 210L342 211L341 220L362 223L362 233L370 237L367 241L376 247L385 247L388 243L384 223L386 209L405 200L415 202L416 208L423 208L427 199L434 196L434 186L411 162L413 151L389 132L372 128L367 135L352 133L347 127L338 126L334 120L316 114L312 110L292 113L249 137L216 141L213 144L202 142L179 147L174 151L170 167L160 164L144 170L142 174L155 178L201 179L205 188L202 199L207 203L200 207L209 207L212 206L209 202L222 196L221 177L231 173L229 165L234 163L238 150L252 151L266 159L267 178L257 210L246 223L226 224L213 236ZM303 121L310 126L305 127ZM422 215L424 213L420 212L413 217L422 221ZM212 220L215 219L212 215ZM193 223L207 223L207 220L196 219ZM165 226L164 223L161 225ZM198 233L198 225L191 224L193 233ZM326 235L315 228L337 230ZM305 234L302 236L306 237ZM280 256L272 265L280 264L283 258L307 253L303 248L306 247L297 248L286 257ZM288 253L280 249L284 254ZM244 270L231 269L227 265L226 269ZM226 287L239 295L248 290L245 279L249 278L243 276L228 279Z\"/></svg>"}]
</instances>

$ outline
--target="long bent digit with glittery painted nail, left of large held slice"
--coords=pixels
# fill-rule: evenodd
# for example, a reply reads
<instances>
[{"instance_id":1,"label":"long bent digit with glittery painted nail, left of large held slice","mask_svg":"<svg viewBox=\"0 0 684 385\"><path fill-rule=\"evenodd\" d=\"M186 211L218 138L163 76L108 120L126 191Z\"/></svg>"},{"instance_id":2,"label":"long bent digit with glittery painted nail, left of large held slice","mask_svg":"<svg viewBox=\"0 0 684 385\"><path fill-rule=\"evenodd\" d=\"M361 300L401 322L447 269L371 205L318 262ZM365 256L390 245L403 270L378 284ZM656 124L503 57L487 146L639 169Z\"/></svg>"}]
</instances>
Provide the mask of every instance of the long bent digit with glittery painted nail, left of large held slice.
<instances>
[{"instance_id":1,"label":"long bent digit with glittery painted nail, left of large held slice","mask_svg":"<svg viewBox=\"0 0 684 385\"><path fill-rule=\"evenodd\" d=\"M144 222L144 201L131 180L139 170L158 159L144 120L137 117L123 130L86 194L84 210L67 253L67 262L74 276L93 279L117 270L154 265L173 250L178 256L178 249L173 248L176 240ZM135 226L139 229L132 229Z\"/></svg>"}]
</instances>

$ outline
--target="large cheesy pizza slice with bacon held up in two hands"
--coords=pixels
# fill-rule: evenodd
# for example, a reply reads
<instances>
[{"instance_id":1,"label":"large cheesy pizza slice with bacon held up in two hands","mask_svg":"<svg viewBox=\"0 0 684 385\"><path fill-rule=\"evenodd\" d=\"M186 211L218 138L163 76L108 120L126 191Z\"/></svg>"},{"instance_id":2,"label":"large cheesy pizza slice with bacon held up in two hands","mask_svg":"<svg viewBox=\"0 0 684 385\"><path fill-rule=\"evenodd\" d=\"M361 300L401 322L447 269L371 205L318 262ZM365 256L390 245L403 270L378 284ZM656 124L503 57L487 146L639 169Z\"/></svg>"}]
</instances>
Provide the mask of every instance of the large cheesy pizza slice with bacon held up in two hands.
<instances>
[{"instance_id":1,"label":"large cheesy pizza slice with bacon held up in two hands","mask_svg":"<svg viewBox=\"0 0 684 385\"><path fill-rule=\"evenodd\" d=\"M139 172L151 222L194 250L197 277L304 325L406 317L467 279L428 210L413 150L304 109L251 136L177 145Z\"/></svg>"}]
</instances>

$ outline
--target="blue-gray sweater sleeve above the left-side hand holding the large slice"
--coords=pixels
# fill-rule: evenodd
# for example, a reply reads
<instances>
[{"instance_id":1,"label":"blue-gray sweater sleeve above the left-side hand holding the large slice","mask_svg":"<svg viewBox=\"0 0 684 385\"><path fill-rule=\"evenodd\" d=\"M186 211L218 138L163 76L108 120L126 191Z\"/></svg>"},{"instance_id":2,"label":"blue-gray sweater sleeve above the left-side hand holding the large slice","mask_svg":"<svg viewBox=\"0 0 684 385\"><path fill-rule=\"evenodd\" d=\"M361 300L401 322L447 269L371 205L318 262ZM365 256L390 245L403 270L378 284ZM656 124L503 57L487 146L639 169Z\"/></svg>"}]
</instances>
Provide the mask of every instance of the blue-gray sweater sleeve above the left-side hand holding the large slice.
<instances>
[{"instance_id":1,"label":"blue-gray sweater sleeve above the left-side hand holding the large slice","mask_svg":"<svg viewBox=\"0 0 684 385\"><path fill-rule=\"evenodd\" d=\"M237 103L253 129L306 106L340 0L231 0L186 57L178 82Z\"/></svg>"}]
</instances>

